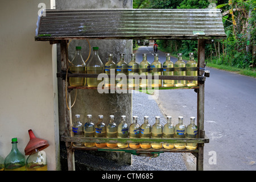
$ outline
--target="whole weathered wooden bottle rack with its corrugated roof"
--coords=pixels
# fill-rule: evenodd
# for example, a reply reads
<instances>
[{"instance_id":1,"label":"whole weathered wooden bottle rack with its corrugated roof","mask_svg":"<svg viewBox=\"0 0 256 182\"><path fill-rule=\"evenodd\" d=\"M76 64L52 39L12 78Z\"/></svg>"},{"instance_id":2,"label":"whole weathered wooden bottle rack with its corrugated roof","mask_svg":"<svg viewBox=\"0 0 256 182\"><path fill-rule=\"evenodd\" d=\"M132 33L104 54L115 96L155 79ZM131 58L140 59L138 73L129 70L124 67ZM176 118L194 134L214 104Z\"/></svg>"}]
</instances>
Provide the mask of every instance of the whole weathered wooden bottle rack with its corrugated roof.
<instances>
[{"instance_id":1,"label":"whole weathered wooden bottle rack with its corrugated roof","mask_svg":"<svg viewBox=\"0 0 256 182\"><path fill-rule=\"evenodd\" d=\"M210 13L211 14L210 14ZM134 155L159 155L162 152L191 152L196 156L196 169L203 170L204 161L204 143L209 143L209 139L205 138L204 131L204 82L205 75L205 44L211 43L212 39L226 38L220 10L218 9L193 9L193 10L143 10L143 9L110 9L110 10L44 10L44 16L40 16L38 20L36 41L49 41L51 44L60 44L61 58L61 73L57 73L57 77L63 78L63 99L68 100L69 108L71 108L72 89L97 89L87 86L67 86L68 93L65 94L66 82L65 77L68 69L68 40L71 39L183 39L197 40L197 76L159 76L161 80L197 80L198 86L180 87L180 88L164 88L161 89L195 89L197 93L197 139L122 139L122 138L84 138L73 137L72 119L67 105L64 103L65 116L65 133L61 136L61 140L65 142L67 147L68 169L75 170L75 159L73 152L75 150L97 150L97 151L114 151L114 152L129 152ZM95 18L94 14L97 14ZM163 22L155 22L155 16L163 19ZM84 26L71 27L76 22L76 17L84 21ZM88 18L89 17L89 18ZM178 17L178 18L177 18ZM184 18L184 22L180 17ZM199 18L198 18L199 17ZM88 19L87 19L88 18ZM99 19L105 18L106 21ZM143 28L138 28L143 18L146 25ZM54 19L55 21L51 21ZM61 25L55 25L63 22ZM131 21L131 22L130 22ZM172 27L174 22L180 22L181 26ZM212 22L212 26L209 24ZM91 24L90 24L91 23ZM104 24L106 23L106 24ZM112 24L113 26L110 26ZM89 25L89 26L88 26ZM93 28L94 25L97 27ZM182 26L185 25L185 26ZM98 27L108 26L108 32L104 32ZM163 26L163 27L161 27ZM65 28L63 28L65 27ZM67 28L68 27L68 28ZM79 28L84 27L82 30ZM86 27L86 28L85 28ZM154 27L151 31L148 27ZM185 28L184 28L185 27ZM78 29L77 29L78 28ZM92 28L92 29L90 29ZM187 29L186 29L187 28ZM158 30L159 29L159 30ZM61 30L61 31L60 31ZM92 31L93 30L93 31ZM195 34L192 30L203 30L203 34ZM103 32L102 32L103 31ZM124 32L125 31L125 32ZM183 32L183 33L180 33ZM72 74L68 73L67 77L97 77L94 74ZM154 79L154 77L152 77ZM72 142L99 142L99 143L117 143L117 142L146 142L146 143L197 143L196 150L178 150L173 148L167 149L147 149L139 148L97 148L97 147L75 147Z\"/></svg>"}]
</instances>

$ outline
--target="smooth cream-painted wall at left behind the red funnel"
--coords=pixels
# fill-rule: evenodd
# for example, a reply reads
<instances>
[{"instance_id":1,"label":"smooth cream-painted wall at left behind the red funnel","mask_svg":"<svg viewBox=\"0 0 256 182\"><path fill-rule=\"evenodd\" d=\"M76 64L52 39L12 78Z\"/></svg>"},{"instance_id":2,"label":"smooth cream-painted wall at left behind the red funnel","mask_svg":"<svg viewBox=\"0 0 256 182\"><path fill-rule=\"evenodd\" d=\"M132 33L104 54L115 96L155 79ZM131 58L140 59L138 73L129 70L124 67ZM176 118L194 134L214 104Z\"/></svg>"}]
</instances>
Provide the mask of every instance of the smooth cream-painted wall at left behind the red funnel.
<instances>
[{"instance_id":1,"label":"smooth cream-painted wall at left behind the red funnel","mask_svg":"<svg viewBox=\"0 0 256 182\"><path fill-rule=\"evenodd\" d=\"M36 137L48 140L44 150L48 169L56 170L60 167L56 47L35 42L39 3L51 8L50 0L1 1L0 155L9 154L14 137L24 154L32 129Z\"/></svg>"}]
</instances>

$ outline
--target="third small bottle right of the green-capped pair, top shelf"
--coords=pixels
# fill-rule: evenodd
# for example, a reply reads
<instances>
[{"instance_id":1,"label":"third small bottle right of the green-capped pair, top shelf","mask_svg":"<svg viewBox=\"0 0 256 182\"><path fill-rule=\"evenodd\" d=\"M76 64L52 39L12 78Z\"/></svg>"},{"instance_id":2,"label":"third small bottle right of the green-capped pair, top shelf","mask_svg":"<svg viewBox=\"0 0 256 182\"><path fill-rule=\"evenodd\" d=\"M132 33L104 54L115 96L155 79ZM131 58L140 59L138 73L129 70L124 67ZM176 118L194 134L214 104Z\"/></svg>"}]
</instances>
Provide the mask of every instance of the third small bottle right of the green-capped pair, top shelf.
<instances>
[{"instance_id":1,"label":"third small bottle right of the green-capped pair, top shelf","mask_svg":"<svg viewBox=\"0 0 256 182\"><path fill-rule=\"evenodd\" d=\"M127 64L128 75L130 75L131 77L135 75L135 73L139 73L139 63L136 61L135 57L135 53L132 53L131 61ZM136 86L139 86L139 80L135 78L128 78L127 84L130 88L134 88Z\"/></svg>"}]
</instances>

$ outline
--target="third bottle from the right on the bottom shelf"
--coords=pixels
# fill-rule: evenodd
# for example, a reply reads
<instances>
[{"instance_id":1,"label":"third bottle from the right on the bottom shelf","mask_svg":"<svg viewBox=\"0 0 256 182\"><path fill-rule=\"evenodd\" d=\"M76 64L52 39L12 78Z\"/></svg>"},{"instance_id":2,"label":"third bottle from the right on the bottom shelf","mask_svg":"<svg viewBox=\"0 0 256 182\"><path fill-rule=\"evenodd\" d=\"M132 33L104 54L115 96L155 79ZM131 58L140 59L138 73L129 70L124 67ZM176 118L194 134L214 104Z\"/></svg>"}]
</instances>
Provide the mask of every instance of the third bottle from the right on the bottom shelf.
<instances>
[{"instance_id":1,"label":"third bottle from the right on the bottom shelf","mask_svg":"<svg viewBox=\"0 0 256 182\"><path fill-rule=\"evenodd\" d=\"M172 125L172 117L167 116L167 123L163 127L163 138L174 138L174 125ZM166 149L174 148L174 143L163 143Z\"/></svg>"}]
</instances>

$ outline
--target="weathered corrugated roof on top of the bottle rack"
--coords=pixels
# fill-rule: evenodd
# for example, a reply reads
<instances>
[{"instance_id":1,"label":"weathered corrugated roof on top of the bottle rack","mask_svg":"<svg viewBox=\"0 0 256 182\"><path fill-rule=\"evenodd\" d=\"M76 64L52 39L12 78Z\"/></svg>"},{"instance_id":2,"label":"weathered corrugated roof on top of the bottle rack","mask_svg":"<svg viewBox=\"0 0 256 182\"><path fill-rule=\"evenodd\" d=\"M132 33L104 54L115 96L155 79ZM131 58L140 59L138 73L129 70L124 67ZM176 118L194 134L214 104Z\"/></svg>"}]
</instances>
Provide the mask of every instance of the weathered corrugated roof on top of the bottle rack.
<instances>
[{"instance_id":1,"label":"weathered corrugated roof on top of the bottle rack","mask_svg":"<svg viewBox=\"0 0 256 182\"><path fill-rule=\"evenodd\" d=\"M221 17L220 9L43 10L35 39L225 38Z\"/></svg>"}]
</instances>

